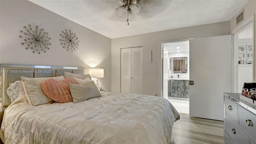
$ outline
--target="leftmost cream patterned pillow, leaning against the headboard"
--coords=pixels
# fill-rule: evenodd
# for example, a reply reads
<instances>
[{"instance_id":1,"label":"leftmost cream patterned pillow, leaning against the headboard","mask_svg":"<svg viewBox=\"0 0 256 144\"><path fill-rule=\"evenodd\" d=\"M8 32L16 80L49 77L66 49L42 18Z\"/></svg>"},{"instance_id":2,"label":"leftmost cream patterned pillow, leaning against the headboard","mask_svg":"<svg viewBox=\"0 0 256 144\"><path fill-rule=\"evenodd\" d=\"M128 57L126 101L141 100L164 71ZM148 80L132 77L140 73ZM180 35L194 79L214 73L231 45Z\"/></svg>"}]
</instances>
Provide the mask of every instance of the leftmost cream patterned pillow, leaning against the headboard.
<instances>
[{"instance_id":1,"label":"leftmost cream patterned pillow, leaning against the headboard","mask_svg":"<svg viewBox=\"0 0 256 144\"><path fill-rule=\"evenodd\" d=\"M10 97L11 102L16 100L22 95L25 95L24 87L21 80L17 80L14 83L10 83L10 87L7 88L6 93Z\"/></svg>"}]
</instances>

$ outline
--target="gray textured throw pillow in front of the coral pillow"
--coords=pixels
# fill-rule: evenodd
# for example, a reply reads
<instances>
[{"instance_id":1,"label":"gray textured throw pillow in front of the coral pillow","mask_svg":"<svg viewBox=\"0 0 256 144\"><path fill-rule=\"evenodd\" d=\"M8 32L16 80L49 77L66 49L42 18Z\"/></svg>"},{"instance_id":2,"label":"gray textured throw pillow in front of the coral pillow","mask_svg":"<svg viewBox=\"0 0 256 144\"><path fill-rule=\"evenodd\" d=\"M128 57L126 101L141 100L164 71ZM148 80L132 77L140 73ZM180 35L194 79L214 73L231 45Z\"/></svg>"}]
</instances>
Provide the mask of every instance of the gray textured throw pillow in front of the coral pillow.
<instances>
[{"instance_id":1,"label":"gray textured throw pillow in front of the coral pillow","mask_svg":"<svg viewBox=\"0 0 256 144\"><path fill-rule=\"evenodd\" d=\"M94 81L89 82L85 86L79 84L68 85L74 103L101 96L100 91L98 90Z\"/></svg>"}]
</instances>

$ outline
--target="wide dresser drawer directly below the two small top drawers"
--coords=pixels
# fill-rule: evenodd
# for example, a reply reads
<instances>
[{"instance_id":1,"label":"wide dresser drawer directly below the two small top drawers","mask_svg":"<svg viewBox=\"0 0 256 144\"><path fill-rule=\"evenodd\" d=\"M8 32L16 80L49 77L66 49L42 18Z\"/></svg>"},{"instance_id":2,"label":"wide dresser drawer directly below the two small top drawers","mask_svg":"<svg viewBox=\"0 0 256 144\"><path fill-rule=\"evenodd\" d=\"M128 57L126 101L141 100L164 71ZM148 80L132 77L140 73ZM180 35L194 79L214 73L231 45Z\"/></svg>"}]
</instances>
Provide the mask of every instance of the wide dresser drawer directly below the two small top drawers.
<instances>
[{"instance_id":1,"label":"wide dresser drawer directly below the two small top drawers","mask_svg":"<svg viewBox=\"0 0 256 144\"><path fill-rule=\"evenodd\" d=\"M225 130L236 144L249 144L249 136L247 136L226 114Z\"/></svg>"}]
</instances>

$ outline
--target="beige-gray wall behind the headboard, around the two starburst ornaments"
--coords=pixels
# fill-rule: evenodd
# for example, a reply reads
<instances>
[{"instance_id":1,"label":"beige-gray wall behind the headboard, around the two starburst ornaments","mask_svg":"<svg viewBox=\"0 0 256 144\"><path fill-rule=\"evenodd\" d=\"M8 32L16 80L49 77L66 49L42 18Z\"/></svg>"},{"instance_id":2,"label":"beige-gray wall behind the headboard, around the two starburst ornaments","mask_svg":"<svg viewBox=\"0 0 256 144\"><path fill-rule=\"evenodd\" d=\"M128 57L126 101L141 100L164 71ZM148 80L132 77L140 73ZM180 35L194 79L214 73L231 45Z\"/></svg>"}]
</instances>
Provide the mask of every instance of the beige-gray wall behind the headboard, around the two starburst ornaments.
<instances>
[{"instance_id":1,"label":"beige-gray wall behind the headboard, around the two starburst ornaments","mask_svg":"<svg viewBox=\"0 0 256 144\"><path fill-rule=\"evenodd\" d=\"M41 54L26 50L21 44L20 30L32 25L44 28L52 39L50 50ZM65 29L78 36L75 52L67 51L60 44L60 34ZM0 0L0 63L53 66L83 66L86 73L91 67L104 68L100 86L111 90L111 39L80 26L58 14L50 12L27 0Z\"/></svg>"}]
</instances>

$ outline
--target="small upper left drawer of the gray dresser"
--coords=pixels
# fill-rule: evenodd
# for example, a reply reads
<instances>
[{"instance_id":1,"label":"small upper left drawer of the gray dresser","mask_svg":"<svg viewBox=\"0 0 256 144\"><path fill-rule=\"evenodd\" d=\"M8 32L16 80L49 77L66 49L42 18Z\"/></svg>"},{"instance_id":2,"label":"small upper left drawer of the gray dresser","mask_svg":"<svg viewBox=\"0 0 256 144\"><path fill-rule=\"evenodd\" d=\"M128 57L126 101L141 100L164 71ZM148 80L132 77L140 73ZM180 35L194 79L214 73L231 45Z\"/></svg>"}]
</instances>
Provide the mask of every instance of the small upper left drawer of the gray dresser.
<instances>
[{"instance_id":1,"label":"small upper left drawer of the gray dresser","mask_svg":"<svg viewBox=\"0 0 256 144\"><path fill-rule=\"evenodd\" d=\"M225 112L238 122L238 104L225 97Z\"/></svg>"}]
</instances>

